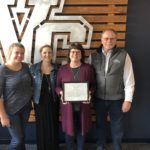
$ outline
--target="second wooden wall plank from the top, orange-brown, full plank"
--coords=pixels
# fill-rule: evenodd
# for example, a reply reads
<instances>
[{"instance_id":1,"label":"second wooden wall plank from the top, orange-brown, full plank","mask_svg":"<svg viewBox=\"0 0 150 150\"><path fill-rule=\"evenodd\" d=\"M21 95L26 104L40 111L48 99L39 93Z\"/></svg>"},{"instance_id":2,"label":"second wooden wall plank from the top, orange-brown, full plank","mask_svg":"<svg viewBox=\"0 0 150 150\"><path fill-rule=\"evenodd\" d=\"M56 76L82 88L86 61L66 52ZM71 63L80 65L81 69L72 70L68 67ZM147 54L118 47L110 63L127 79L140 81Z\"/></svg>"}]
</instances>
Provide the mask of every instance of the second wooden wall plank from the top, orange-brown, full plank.
<instances>
[{"instance_id":1,"label":"second wooden wall plank from the top, orange-brown, full plank","mask_svg":"<svg viewBox=\"0 0 150 150\"><path fill-rule=\"evenodd\" d=\"M57 14L127 14L127 6L69 6L64 7L63 12Z\"/></svg>"}]
</instances>

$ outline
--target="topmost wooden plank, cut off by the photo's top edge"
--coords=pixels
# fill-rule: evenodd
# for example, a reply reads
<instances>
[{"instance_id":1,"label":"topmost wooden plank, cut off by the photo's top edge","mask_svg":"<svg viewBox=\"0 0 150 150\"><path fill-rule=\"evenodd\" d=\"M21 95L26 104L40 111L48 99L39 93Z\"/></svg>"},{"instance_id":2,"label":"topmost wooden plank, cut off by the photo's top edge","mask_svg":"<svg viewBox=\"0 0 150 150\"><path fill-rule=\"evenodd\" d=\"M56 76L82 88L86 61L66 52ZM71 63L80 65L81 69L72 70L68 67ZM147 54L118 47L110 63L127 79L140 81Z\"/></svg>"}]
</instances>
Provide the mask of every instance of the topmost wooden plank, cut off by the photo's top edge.
<instances>
[{"instance_id":1,"label":"topmost wooden plank, cut off by the photo's top edge","mask_svg":"<svg viewBox=\"0 0 150 150\"><path fill-rule=\"evenodd\" d=\"M65 0L65 4L76 5L98 5L98 4L128 4L128 0Z\"/></svg>"}]
</instances>

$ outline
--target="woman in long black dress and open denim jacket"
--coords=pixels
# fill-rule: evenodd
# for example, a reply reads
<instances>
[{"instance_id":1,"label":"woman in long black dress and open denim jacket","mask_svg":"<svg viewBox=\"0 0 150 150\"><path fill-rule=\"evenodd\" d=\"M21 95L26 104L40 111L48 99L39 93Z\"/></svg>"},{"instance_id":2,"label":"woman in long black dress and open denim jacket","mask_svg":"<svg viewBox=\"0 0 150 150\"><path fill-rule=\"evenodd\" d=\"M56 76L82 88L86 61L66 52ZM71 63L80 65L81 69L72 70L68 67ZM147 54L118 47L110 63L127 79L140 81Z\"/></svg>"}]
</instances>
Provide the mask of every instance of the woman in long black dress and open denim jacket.
<instances>
[{"instance_id":1,"label":"woman in long black dress and open denim jacket","mask_svg":"<svg viewBox=\"0 0 150 150\"><path fill-rule=\"evenodd\" d=\"M34 78L34 108L38 150L58 150L58 100L55 94L57 65L52 63L52 48L40 49L42 61L31 66Z\"/></svg>"}]
</instances>

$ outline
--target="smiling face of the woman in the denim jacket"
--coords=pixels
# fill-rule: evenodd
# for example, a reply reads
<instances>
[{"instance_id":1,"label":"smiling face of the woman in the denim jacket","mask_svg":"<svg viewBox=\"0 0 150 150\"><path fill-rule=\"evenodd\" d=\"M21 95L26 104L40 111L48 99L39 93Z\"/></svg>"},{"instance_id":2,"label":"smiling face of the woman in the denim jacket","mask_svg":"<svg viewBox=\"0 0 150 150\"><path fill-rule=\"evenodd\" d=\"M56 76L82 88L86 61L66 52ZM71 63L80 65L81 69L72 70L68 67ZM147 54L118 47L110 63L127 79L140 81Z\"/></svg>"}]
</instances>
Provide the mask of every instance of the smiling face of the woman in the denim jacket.
<instances>
[{"instance_id":1,"label":"smiling face of the woman in the denim jacket","mask_svg":"<svg viewBox=\"0 0 150 150\"><path fill-rule=\"evenodd\" d=\"M43 47L41 49L41 58L44 62L51 62L52 61L53 52L51 47Z\"/></svg>"}]
</instances>

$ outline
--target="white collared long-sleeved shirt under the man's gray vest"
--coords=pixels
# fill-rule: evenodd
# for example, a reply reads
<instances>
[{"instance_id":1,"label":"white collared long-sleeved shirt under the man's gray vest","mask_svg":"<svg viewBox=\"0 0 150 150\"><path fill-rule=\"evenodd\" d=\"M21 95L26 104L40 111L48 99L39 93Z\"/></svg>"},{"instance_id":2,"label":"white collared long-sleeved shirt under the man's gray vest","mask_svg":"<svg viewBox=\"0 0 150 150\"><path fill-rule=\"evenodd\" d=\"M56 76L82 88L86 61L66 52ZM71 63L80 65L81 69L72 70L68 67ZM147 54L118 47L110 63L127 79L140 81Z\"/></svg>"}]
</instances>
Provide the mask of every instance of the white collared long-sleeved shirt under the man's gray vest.
<instances>
[{"instance_id":1,"label":"white collared long-sleeved shirt under the man's gray vest","mask_svg":"<svg viewBox=\"0 0 150 150\"><path fill-rule=\"evenodd\" d=\"M107 52L107 54L102 50L103 54L105 55L105 73L107 74L108 70L108 64L110 60L110 56L112 53L112 50ZM134 80L134 73L133 73L133 67L132 62L129 54L126 55L125 65L124 65L124 73L123 73L123 82L124 82L124 91L125 91L125 101L132 102L133 99L133 93L134 93L134 86L135 86L135 80Z\"/></svg>"}]
</instances>

